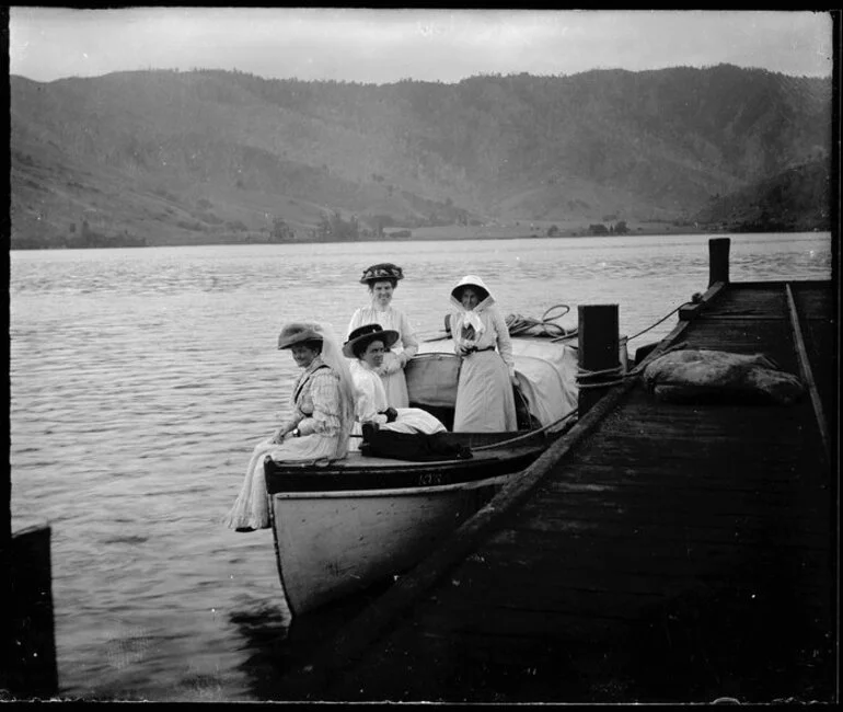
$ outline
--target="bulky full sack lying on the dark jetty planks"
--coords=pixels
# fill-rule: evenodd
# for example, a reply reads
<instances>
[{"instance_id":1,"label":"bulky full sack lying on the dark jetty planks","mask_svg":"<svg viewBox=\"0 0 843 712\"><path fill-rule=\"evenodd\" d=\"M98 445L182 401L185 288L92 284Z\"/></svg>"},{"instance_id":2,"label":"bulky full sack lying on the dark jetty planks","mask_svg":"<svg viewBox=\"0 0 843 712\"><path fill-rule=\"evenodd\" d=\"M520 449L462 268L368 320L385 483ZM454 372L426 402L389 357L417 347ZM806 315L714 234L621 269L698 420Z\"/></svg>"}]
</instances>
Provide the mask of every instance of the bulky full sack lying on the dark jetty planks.
<instances>
[{"instance_id":1,"label":"bulky full sack lying on the dark jetty planks","mask_svg":"<svg viewBox=\"0 0 843 712\"><path fill-rule=\"evenodd\" d=\"M790 405L801 381L763 354L682 349L663 354L644 369L644 383L662 401Z\"/></svg>"}]
</instances>

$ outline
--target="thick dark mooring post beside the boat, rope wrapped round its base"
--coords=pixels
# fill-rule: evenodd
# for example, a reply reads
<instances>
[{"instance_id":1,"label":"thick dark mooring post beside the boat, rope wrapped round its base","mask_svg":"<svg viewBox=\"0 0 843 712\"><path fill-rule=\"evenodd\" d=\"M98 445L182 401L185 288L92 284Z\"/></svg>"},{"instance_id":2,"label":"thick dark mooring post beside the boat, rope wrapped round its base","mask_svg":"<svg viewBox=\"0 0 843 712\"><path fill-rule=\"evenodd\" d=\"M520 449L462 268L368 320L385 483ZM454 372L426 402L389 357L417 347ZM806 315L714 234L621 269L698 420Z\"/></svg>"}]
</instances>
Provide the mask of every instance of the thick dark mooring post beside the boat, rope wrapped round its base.
<instances>
[{"instance_id":1,"label":"thick dark mooring post beside the boat, rope wrapped round its base","mask_svg":"<svg viewBox=\"0 0 843 712\"><path fill-rule=\"evenodd\" d=\"M617 305L580 305L579 329L579 417L607 392L599 383L620 377Z\"/></svg>"}]
</instances>

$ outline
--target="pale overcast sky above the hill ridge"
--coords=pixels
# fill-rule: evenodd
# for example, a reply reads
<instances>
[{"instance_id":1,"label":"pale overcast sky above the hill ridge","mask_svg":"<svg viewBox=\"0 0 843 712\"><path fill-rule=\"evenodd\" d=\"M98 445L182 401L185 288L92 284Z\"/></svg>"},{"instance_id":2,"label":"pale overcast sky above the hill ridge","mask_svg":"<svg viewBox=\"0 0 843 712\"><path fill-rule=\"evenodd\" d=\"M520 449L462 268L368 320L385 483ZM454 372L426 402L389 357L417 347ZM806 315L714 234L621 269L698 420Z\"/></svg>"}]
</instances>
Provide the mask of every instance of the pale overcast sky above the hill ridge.
<instances>
[{"instance_id":1,"label":"pale overcast sky above the hill ridge","mask_svg":"<svg viewBox=\"0 0 843 712\"><path fill-rule=\"evenodd\" d=\"M37 81L135 69L265 78L453 82L482 73L761 67L830 77L825 12L11 8L10 73Z\"/></svg>"}]
</instances>

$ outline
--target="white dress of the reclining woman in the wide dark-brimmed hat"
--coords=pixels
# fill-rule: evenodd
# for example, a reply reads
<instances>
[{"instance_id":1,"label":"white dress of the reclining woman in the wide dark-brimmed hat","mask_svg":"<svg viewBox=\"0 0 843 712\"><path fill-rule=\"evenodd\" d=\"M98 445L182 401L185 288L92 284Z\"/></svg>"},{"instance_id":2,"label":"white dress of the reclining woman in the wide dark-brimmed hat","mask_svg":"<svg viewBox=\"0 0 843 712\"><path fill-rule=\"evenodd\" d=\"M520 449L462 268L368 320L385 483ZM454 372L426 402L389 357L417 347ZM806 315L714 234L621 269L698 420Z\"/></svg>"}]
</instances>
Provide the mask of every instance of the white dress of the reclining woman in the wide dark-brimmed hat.
<instances>
[{"instance_id":1,"label":"white dress of the reclining woman in the wide dark-brimmed hat","mask_svg":"<svg viewBox=\"0 0 843 712\"><path fill-rule=\"evenodd\" d=\"M355 401L355 424L351 428L351 435L362 433L362 423L373 422L380 425L383 430L394 430L395 433L444 433L444 425L427 411L420 407L397 407L397 417L392 422L386 422L386 416L382 414L386 410L386 393L380 376L369 368L369 366L359 359L351 361L351 378L357 389L357 399ZM349 449L359 449L361 438L351 437Z\"/></svg>"}]
</instances>

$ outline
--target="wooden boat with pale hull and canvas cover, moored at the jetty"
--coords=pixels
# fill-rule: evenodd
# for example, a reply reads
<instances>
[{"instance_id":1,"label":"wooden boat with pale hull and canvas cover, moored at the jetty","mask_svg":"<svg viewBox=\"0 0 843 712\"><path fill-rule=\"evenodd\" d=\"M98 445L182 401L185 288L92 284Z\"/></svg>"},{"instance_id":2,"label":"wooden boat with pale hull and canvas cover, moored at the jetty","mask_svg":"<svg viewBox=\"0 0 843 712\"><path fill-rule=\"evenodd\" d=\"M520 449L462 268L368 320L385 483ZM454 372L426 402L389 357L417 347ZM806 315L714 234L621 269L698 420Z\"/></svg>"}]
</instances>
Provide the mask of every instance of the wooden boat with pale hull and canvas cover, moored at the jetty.
<instances>
[{"instance_id":1,"label":"wooden boat with pale hull and canvas cover, moored at the jetty","mask_svg":"<svg viewBox=\"0 0 843 712\"><path fill-rule=\"evenodd\" d=\"M576 349L512 340L519 432L452 433L471 459L409 462L359 451L320 466L264 463L276 561L290 612L396 577L432 551L573 425ZM450 341L405 369L411 405L453 422L459 359Z\"/></svg>"}]
</instances>

